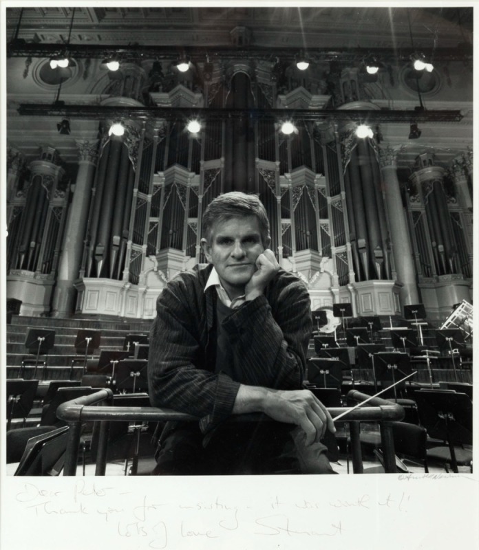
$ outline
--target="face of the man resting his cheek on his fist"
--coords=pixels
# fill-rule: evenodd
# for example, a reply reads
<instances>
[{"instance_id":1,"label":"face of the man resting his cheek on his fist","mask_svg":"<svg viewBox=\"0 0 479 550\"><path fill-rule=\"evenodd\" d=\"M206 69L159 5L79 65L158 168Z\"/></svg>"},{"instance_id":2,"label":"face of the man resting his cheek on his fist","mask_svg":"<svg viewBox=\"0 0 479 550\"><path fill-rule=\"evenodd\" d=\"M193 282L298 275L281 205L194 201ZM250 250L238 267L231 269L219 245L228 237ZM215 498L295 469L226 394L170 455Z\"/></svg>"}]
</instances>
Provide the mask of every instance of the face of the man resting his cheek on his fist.
<instances>
[{"instance_id":1,"label":"face of the man resting his cheek on his fist","mask_svg":"<svg viewBox=\"0 0 479 550\"><path fill-rule=\"evenodd\" d=\"M257 217L234 217L214 223L209 242L202 239L202 245L228 296L242 296L257 269L256 259L264 251Z\"/></svg>"}]
</instances>

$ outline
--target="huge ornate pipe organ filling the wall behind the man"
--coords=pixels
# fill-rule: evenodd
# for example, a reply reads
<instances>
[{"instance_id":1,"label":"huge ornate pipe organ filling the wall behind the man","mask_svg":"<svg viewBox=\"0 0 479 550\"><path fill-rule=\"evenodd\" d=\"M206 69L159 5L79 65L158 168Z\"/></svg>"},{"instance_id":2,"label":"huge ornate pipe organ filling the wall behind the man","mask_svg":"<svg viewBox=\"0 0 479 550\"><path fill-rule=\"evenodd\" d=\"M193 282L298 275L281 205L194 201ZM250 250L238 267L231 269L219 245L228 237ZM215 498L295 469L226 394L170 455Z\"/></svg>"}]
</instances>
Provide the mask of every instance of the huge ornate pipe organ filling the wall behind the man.
<instances>
[{"instance_id":1,"label":"huge ornate pipe organ filling the wall behind the man","mask_svg":"<svg viewBox=\"0 0 479 550\"><path fill-rule=\"evenodd\" d=\"M401 303L422 301L443 318L452 303L470 299L471 198L463 174L448 178L426 154L405 185L390 146L357 138L350 122L297 121L284 135L279 122L255 118L255 109L324 109L331 102L377 109L365 101L360 75L343 72L341 94L326 95L324 67L299 74L281 73L274 63L208 63L203 80L198 72L161 68L127 65L95 90L103 104L211 107L225 115L200 121L198 134L182 118L123 120L122 136L107 134L113 121L98 121L98 159L74 185L88 203L85 223L70 224L70 236L62 232L72 197L55 151L31 163L21 184L11 166L10 278L31 272L52 279L48 299L38 298L30 313L50 311L53 299L58 316L153 317L164 282L205 261L202 212L229 190L262 199L271 247L309 285L313 309L339 301L353 303L354 314L396 315ZM238 110L251 115L227 115ZM409 239L411 257L398 266ZM61 284L52 297L58 263Z\"/></svg>"}]
</instances>

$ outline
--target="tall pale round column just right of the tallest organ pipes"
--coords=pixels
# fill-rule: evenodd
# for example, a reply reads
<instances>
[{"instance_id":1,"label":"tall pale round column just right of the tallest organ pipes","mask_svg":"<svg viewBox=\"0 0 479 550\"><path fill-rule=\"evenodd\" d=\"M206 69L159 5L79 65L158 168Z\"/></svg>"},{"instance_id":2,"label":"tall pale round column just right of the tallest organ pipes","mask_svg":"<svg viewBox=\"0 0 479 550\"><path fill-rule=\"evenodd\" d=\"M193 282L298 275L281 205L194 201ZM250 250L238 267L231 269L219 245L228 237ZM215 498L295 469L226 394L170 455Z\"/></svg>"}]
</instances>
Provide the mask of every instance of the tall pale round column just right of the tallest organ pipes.
<instances>
[{"instance_id":1,"label":"tall pale round column just right of the tallest organ pipes","mask_svg":"<svg viewBox=\"0 0 479 550\"><path fill-rule=\"evenodd\" d=\"M416 270L414 269L414 258L396 171L397 151L390 146L381 147L379 156L394 265L398 283L403 285L400 294L401 302L403 305L417 304L419 295L416 285Z\"/></svg>"}]
</instances>

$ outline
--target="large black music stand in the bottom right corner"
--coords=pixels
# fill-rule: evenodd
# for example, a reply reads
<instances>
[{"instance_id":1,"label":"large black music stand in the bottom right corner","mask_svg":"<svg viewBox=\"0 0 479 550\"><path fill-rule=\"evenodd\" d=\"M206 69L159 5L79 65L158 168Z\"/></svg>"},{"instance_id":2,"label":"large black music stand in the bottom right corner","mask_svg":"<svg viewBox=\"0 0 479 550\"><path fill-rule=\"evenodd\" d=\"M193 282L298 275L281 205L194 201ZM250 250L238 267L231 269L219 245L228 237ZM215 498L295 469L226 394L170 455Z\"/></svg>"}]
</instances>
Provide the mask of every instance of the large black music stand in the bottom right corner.
<instances>
[{"instance_id":1,"label":"large black music stand in the bottom right corner","mask_svg":"<svg viewBox=\"0 0 479 550\"><path fill-rule=\"evenodd\" d=\"M451 390L422 389L414 392L421 426L436 440L427 449L427 457L458 473L459 466L472 472L472 401L465 393ZM438 445L437 441L445 444ZM433 446L434 445L434 446Z\"/></svg>"}]
</instances>

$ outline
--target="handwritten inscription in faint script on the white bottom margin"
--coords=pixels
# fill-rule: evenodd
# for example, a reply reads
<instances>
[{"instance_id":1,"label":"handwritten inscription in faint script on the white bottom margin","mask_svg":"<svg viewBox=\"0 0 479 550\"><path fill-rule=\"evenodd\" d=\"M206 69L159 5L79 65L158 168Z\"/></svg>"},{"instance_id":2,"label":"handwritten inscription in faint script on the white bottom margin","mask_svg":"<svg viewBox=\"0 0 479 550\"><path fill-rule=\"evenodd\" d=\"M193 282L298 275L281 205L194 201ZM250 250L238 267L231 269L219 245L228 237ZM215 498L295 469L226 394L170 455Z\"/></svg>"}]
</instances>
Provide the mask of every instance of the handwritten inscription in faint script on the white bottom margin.
<instances>
[{"instance_id":1,"label":"handwritten inscription in faint script on the white bottom margin","mask_svg":"<svg viewBox=\"0 0 479 550\"><path fill-rule=\"evenodd\" d=\"M175 502L171 494L165 499L156 498L154 493L119 494L116 487L85 479L62 489L28 481L22 483L15 500L36 517L76 516L76 520L85 517L89 525L92 521L104 525L109 536L117 536L138 548L158 550L178 548L182 540L183 544L219 540L222 546L232 536L265 541L286 537L298 542L343 538L354 532L354 528L348 527L352 511L407 514L410 504L406 492L364 493L353 498L338 495L318 500L277 494L262 502L236 503L220 496Z\"/></svg>"}]
</instances>

